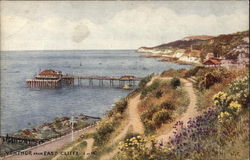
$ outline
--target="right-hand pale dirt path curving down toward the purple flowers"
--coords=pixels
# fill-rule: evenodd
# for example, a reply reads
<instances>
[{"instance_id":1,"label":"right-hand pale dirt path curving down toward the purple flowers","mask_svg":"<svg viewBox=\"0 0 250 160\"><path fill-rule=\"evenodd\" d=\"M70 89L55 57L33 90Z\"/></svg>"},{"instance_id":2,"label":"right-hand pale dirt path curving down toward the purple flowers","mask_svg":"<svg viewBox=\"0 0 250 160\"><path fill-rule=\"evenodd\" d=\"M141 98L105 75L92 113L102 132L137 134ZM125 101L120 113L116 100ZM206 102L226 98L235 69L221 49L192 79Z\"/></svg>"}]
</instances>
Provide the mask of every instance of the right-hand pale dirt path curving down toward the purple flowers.
<instances>
[{"instance_id":1,"label":"right-hand pale dirt path curving down toward the purple flowers","mask_svg":"<svg viewBox=\"0 0 250 160\"><path fill-rule=\"evenodd\" d=\"M194 93L193 84L187 81L186 79L181 79L181 81L184 83L184 90L189 95L190 103L187 107L187 111L181 116L181 118L176 119L174 122L172 122L172 124L169 124L170 126L173 126L177 121L182 121L184 123L184 126L186 126L187 122L189 121L189 118L194 118L198 115L198 112L196 110L197 98ZM167 128L165 133L159 136L157 139L165 144L169 141L169 138L174 135L174 131L175 130L172 127L171 129Z\"/></svg>"}]
</instances>

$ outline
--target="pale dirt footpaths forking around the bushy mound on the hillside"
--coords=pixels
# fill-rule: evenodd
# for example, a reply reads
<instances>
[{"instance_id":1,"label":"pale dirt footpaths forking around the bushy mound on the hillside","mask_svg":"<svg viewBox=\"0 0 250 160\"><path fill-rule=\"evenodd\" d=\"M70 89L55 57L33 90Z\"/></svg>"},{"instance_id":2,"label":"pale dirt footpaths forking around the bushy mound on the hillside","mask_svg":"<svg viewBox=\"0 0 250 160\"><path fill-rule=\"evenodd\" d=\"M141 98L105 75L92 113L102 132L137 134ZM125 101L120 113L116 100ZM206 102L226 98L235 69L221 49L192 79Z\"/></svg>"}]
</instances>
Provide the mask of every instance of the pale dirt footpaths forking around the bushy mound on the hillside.
<instances>
[{"instance_id":1,"label":"pale dirt footpaths forking around the bushy mound on the hillside","mask_svg":"<svg viewBox=\"0 0 250 160\"><path fill-rule=\"evenodd\" d=\"M170 80L171 77L160 77L160 76L155 76L151 79L150 82L148 82L147 86L151 85L154 80L159 79L159 80ZM193 83L186 79L181 79L181 82L184 84L184 90L188 93L190 103L187 107L187 111L183 113L181 118L176 119L174 122L172 122L172 126L177 122L177 121L182 121L184 123L184 126L187 124L189 121L189 118L193 118L198 115L198 112L196 110L196 95L194 93L193 89ZM140 94L133 97L130 99L129 104L128 104L128 110L129 110L129 123L128 125L124 128L124 130L114 139L115 141L113 142L118 142L121 140L123 137L125 137L128 128L132 127L133 131L135 133L143 134L144 133L144 127L143 123L141 122L140 115L138 113L138 104L140 102ZM169 141L169 138L174 135L174 129L173 128L167 128L164 132L164 134L160 135L157 137L157 140L161 143L167 143ZM119 138L118 138L119 137ZM114 143L113 143L114 144ZM119 152L119 149L116 148L112 152L103 155L100 160L109 160L112 157L114 157L117 153Z\"/></svg>"}]
</instances>

